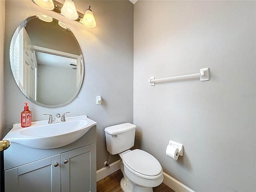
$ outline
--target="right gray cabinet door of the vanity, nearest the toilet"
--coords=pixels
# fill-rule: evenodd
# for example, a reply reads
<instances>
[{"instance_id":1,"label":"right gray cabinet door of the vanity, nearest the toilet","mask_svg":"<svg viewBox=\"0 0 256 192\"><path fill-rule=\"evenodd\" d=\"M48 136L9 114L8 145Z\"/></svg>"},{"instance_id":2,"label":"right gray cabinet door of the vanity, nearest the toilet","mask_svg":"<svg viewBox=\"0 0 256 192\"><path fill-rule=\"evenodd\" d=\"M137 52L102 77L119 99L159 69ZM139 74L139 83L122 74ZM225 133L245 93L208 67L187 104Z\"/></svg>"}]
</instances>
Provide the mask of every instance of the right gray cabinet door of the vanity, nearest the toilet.
<instances>
[{"instance_id":1,"label":"right gray cabinet door of the vanity, nearest the toilet","mask_svg":"<svg viewBox=\"0 0 256 192\"><path fill-rule=\"evenodd\" d=\"M96 192L95 164L96 144L61 154L61 191Z\"/></svg>"}]
</instances>

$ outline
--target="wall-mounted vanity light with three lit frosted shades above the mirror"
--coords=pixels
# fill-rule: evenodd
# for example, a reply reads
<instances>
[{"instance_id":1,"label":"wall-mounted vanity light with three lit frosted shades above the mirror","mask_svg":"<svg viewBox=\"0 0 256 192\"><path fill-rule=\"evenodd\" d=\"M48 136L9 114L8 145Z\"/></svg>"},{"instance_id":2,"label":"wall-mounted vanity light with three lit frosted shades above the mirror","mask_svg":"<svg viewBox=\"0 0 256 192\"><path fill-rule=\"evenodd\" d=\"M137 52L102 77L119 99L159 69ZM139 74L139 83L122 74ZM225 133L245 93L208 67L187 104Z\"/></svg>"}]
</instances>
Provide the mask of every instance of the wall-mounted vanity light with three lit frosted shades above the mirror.
<instances>
[{"instance_id":1,"label":"wall-mounted vanity light with three lit frosted shades above the mirror","mask_svg":"<svg viewBox=\"0 0 256 192\"><path fill-rule=\"evenodd\" d=\"M64 4L61 4L56 0L32 0L32 1L44 9L52 10L53 12L61 14L68 19L82 23L86 27L94 28L96 26L94 15L92 13L92 10L90 9L91 6L89 6L86 12L82 14L76 11L76 7L73 0L65 0ZM51 4L51 6L49 4Z\"/></svg>"}]
</instances>

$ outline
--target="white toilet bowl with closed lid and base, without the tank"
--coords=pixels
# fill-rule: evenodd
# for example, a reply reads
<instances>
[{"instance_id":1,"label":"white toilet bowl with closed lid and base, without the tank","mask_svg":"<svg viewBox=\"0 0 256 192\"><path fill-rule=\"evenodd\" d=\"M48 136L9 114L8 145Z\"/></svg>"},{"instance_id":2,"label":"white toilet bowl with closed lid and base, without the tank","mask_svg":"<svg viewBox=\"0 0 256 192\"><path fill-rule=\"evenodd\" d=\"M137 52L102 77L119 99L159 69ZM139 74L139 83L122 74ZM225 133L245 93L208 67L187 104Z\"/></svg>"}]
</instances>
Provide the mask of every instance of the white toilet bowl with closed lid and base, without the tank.
<instances>
[{"instance_id":1,"label":"white toilet bowl with closed lid and base, without the tank","mask_svg":"<svg viewBox=\"0 0 256 192\"><path fill-rule=\"evenodd\" d=\"M151 154L135 149L122 152L119 156L124 175L120 186L124 192L153 192L152 187L163 182L162 167Z\"/></svg>"}]
</instances>

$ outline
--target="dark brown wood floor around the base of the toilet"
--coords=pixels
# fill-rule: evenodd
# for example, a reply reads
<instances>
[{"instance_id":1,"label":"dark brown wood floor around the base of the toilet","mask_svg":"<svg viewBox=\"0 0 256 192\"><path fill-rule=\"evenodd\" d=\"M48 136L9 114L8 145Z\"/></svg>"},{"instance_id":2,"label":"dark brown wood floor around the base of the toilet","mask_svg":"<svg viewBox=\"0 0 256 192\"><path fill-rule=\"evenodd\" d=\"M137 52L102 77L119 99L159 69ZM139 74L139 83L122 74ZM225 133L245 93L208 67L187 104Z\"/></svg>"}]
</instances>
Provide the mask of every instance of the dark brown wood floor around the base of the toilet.
<instances>
[{"instance_id":1,"label":"dark brown wood floor around the base of the toilet","mask_svg":"<svg viewBox=\"0 0 256 192\"><path fill-rule=\"evenodd\" d=\"M97 192L122 192L120 187L120 180L122 179L123 174L121 170L117 170L111 175L99 180L97 182ZM160 186L153 188L154 192L175 192L165 184L160 184Z\"/></svg>"}]
</instances>

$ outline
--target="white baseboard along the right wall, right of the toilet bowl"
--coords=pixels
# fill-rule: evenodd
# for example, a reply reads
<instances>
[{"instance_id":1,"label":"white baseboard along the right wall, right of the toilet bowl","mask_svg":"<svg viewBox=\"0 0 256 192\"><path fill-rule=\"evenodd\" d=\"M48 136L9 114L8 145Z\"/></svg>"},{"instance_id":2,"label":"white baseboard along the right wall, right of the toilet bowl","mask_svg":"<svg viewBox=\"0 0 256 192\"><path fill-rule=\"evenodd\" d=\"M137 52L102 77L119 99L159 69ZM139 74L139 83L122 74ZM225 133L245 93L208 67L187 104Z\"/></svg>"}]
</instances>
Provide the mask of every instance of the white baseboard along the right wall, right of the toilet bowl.
<instances>
[{"instance_id":1,"label":"white baseboard along the right wall, right of the toilet bowl","mask_svg":"<svg viewBox=\"0 0 256 192\"><path fill-rule=\"evenodd\" d=\"M170 187L175 192L195 192L194 190L190 189L186 185L182 184L178 180L172 178L170 175L164 172L164 184Z\"/></svg>"}]
</instances>

